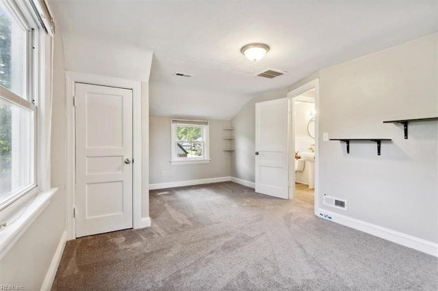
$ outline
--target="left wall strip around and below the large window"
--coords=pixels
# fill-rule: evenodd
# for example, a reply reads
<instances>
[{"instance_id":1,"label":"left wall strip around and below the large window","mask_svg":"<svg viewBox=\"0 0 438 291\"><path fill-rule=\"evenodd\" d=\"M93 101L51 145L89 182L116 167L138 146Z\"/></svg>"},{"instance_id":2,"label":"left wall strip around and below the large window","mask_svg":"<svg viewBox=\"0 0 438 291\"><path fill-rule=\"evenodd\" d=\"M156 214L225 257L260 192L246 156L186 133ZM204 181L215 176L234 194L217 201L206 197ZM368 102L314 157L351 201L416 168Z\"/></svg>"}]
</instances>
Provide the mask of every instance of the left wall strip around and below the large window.
<instances>
[{"instance_id":1,"label":"left wall strip around and below the large window","mask_svg":"<svg viewBox=\"0 0 438 291\"><path fill-rule=\"evenodd\" d=\"M60 32L54 38L51 186L59 190L1 260L1 284L40 290L60 238L65 231L65 87Z\"/></svg>"}]
</instances>

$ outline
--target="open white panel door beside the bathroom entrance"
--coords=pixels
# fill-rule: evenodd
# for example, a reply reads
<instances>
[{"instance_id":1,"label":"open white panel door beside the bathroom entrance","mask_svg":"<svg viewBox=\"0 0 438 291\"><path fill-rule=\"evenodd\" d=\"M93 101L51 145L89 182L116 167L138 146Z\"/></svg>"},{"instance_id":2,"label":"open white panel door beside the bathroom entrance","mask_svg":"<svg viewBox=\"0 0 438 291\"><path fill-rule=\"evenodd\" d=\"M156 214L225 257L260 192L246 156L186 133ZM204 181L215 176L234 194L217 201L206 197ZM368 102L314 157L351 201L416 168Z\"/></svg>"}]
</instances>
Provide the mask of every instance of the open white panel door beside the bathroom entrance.
<instances>
[{"instance_id":1,"label":"open white panel door beside the bathroom entrance","mask_svg":"<svg viewBox=\"0 0 438 291\"><path fill-rule=\"evenodd\" d=\"M255 191L287 199L288 98L255 105Z\"/></svg>"}]
</instances>

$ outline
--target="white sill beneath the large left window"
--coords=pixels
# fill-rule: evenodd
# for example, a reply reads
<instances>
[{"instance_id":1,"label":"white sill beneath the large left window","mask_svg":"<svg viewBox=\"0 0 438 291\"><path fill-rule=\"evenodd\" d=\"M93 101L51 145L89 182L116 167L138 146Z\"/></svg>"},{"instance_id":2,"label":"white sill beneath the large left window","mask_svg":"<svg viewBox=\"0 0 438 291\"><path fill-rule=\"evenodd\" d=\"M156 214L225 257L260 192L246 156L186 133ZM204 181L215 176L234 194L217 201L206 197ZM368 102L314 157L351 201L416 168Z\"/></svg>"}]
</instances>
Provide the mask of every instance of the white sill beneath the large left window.
<instances>
[{"instance_id":1,"label":"white sill beneath the large left window","mask_svg":"<svg viewBox=\"0 0 438 291\"><path fill-rule=\"evenodd\" d=\"M49 205L50 199L56 191L57 188L52 188L38 193L34 201L29 205L25 212L21 214L21 217L0 231L0 260L6 253L8 253L18 238L24 234L27 227L29 227L41 214L42 210Z\"/></svg>"}]
</instances>

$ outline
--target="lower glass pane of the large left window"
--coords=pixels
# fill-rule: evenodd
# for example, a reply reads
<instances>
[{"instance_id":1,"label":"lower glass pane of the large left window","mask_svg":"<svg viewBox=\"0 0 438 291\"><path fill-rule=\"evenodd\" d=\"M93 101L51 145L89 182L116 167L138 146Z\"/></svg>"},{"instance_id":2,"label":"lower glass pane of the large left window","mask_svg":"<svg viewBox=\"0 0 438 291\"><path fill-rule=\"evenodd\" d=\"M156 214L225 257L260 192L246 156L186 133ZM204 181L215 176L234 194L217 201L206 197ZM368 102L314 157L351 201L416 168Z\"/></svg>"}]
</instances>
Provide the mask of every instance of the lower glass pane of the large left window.
<instances>
[{"instance_id":1,"label":"lower glass pane of the large left window","mask_svg":"<svg viewBox=\"0 0 438 291\"><path fill-rule=\"evenodd\" d=\"M0 204L34 184L33 115L0 98Z\"/></svg>"}]
</instances>

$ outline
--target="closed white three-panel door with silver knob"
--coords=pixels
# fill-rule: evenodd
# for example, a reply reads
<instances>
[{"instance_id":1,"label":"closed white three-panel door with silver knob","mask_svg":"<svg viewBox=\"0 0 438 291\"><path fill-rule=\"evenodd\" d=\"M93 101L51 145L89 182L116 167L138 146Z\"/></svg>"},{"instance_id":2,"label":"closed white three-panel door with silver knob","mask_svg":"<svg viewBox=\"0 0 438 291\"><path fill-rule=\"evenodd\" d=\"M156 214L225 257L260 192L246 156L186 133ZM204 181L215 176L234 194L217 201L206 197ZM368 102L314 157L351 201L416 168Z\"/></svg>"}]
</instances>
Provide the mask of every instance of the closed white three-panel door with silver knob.
<instances>
[{"instance_id":1,"label":"closed white three-panel door with silver knob","mask_svg":"<svg viewBox=\"0 0 438 291\"><path fill-rule=\"evenodd\" d=\"M132 227L132 90L75 84L76 237Z\"/></svg>"}]
</instances>

